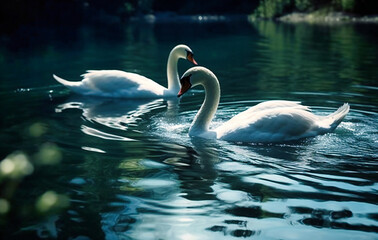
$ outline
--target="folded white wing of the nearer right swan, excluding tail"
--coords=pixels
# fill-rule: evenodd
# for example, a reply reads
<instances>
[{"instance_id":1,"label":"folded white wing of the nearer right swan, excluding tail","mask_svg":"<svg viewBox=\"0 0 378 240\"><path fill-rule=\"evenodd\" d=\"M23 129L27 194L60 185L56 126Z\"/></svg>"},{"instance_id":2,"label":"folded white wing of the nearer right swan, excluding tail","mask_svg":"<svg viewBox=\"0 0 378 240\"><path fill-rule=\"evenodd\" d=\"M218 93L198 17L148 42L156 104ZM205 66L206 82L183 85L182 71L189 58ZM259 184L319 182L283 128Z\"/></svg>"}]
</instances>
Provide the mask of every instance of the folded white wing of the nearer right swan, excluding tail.
<instances>
[{"instance_id":1,"label":"folded white wing of the nearer right swan, excluding tail","mask_svg":"<svg viewBox=\"0 0 378 240\"><path fill-rule=\"evenodd\" d=\"M316 116L303 109L276 108L242 112L216 129L227 141L281 142L316 135Z\"/></svg>"}]
</instances>

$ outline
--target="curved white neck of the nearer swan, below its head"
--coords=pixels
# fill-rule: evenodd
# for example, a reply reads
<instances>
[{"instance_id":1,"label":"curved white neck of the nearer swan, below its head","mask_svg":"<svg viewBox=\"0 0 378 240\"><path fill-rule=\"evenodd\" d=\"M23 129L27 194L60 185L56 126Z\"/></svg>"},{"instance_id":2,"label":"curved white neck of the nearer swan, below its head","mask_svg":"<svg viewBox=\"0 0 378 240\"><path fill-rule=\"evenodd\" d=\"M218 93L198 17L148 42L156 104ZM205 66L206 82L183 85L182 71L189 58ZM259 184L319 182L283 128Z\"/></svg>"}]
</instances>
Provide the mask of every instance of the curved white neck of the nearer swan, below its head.
<instances>
[{"instance_id":1,"label":"curved white neck of the nearer swan, below its head","mask_svg":"<svg viewBox=\"0 0 378 240\"><path fill-rule=\"evenodd\" d=\"M190 136L200 136L213 138L213 136L204 136L209 134L209 126L217 111L220 99L220 87L215 75L207 75L201 82L205 88L205 100L200 110L195 116L192 126L189 130ZM215 137L215 136L214 136Z\"/></svg>"}]
</instances>

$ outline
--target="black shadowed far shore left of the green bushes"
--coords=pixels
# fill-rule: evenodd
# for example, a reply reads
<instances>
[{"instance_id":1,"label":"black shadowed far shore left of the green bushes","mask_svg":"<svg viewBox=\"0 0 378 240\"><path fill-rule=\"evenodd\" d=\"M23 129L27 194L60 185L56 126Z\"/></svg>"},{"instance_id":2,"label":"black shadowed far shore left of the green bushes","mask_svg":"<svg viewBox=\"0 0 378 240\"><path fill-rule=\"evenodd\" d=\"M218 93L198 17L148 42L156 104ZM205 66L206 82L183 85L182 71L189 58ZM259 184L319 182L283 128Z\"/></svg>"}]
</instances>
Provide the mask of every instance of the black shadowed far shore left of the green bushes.
<instances>
[{"instance_id":1,"label":"black shadowed far shore left of the green bushes","mask_svg":"<svg viewBox=\"0 0 378 240\"><path fill-rule=\"evenodd\" d=\"M5 0L0 2L0 25L22 23L71 24L106 21L111 17L170 11L178 14L250 14L259 0Z\"/></svg>"}]
</instances>

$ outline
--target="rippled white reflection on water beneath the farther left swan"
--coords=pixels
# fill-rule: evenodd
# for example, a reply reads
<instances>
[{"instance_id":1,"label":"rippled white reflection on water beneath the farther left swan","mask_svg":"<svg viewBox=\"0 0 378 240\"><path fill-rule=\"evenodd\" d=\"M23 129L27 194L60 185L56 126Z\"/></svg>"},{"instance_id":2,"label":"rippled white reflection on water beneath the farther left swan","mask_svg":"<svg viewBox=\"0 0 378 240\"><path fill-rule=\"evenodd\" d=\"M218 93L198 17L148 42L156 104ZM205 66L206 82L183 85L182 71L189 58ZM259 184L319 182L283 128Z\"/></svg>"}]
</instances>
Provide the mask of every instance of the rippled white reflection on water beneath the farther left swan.
<instances>
[{"instance_id":1,"label":"rippled white reflection on water beneath the farther left swan","mask_svg":"<svg viewBox=\"0 0 378 240\"><path fill-rule=\"evenodd\" d=\"M55 111L80 109L85 121L81 129L85 134L108 140L128 141L132 139L125 138L124 135L130 132L145 133L148 126L143 120L148 120L151 115L163 111L162 109L166 111L166 121L174 119L177 115L178 101L176 98L111 99L75 95L58 105Z\"/></svg>"}]
</instances>

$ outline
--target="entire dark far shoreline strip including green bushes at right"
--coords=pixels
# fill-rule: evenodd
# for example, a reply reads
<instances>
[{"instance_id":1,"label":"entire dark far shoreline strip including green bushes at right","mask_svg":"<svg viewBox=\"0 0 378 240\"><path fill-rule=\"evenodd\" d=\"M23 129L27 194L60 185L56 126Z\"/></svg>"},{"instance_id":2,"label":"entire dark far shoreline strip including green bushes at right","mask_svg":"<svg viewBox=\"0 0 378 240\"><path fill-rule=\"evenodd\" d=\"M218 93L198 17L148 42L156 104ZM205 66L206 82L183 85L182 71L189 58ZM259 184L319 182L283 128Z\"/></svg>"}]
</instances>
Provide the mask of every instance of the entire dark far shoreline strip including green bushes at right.
<instances>
[{"instance_id":1,"label":"entire dark far shoreline strip including green bushes at right","mask_svg":"<svg viewBox=\"0 0 378 240\"><path fill-rule=\"evenodd\" d=\"M367 15L378 13L377 0L5 0L0 30L20 24L80 24L123 21L155 12L177 14L251 14L274 18L319 9Z\"/></svg>"}]
</instances>

